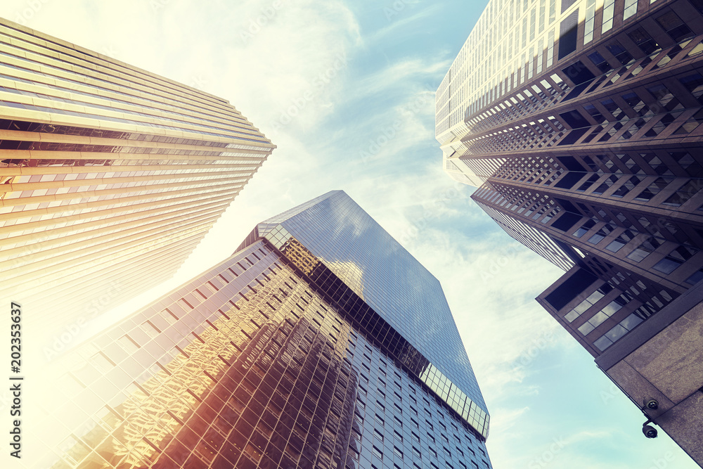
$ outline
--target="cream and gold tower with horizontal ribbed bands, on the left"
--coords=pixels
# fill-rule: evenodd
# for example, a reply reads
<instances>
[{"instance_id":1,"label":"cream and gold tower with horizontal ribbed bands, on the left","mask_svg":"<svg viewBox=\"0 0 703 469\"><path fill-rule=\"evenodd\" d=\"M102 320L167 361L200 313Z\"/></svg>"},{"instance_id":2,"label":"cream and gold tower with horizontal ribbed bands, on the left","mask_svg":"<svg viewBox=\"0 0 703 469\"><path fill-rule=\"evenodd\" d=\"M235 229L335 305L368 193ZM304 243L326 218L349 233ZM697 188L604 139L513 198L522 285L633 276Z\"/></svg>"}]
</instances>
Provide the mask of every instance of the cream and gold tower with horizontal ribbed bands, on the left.
<instances>
[{"instance_id":1,"label":"cream and gold tower with horizontal ribbed bands, on the left","mask_svg":"<svg viewBox=\"0 0 703 469\"><path fill-rule=\"evenodd\" d=\"M0 297L58 331L157 285L273 148L222 98L0 19Z\"/></svg>"}]
</instances>

